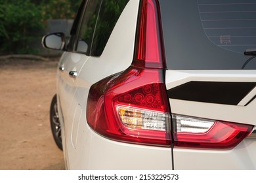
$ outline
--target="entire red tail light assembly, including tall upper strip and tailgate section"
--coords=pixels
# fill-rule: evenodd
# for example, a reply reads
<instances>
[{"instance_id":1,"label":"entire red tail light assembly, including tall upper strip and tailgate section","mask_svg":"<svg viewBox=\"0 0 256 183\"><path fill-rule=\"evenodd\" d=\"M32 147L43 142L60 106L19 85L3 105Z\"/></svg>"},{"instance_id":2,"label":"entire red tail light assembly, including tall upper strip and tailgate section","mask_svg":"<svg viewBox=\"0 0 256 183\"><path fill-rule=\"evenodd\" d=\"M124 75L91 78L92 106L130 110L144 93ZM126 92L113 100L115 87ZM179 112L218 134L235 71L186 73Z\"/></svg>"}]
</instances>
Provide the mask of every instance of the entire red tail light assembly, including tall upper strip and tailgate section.
<instances>
[{"instance_id":1,"label":"entire red tail light assembly, including tall upper strip and tailgate section","mask_svg":"<svg viewBox=\"0 0 256 183\"><path fill-rule=\"evenodd\" d=\"M89 91L91 128L119 142L199 149L234 148L251 133L253 125L171 114L165 69L159 5L142 0L131 66Z\"/></svg>"}]
</instances>

